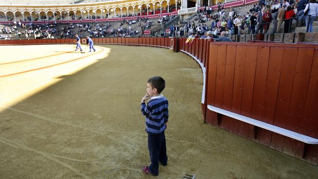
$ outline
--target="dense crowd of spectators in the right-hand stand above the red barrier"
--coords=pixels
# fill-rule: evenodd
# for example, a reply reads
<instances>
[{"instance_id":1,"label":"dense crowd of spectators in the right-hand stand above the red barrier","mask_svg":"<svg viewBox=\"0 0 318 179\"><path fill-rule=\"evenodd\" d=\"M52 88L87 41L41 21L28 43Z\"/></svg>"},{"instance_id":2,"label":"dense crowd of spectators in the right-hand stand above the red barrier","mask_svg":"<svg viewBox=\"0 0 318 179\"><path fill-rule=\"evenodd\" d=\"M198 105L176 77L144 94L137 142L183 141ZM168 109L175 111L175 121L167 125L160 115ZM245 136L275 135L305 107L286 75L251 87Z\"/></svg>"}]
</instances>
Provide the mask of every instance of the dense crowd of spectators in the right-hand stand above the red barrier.
<instances>
[{"instance_id":1,"label":"dense crowd of spectators in the right-hand stand above the red barrier","mask_svg":"<svg viewBox=\"0 0 318 179\"><path fill-rule=\"evenodd\" d=\"M306 4L307 0L260 0L252 5L248 12L240 14L232 8L225 10L224 4L220 3L216 11L212 11L212 7L197 11L192 22L171 25L169 36L190 36L192 33L202 36L207 31L211 31L213 36L221 35L221 32L228 35L288 33L294 20L297 21L297 25L305 20L307 31L312 32L312 22L318 13L318 4L315 0L310 0L310 6ZM307 9L310 16L304 16L303 11ZM273 26L271 30L270 26Z\"/></svg>"}]
</instances>

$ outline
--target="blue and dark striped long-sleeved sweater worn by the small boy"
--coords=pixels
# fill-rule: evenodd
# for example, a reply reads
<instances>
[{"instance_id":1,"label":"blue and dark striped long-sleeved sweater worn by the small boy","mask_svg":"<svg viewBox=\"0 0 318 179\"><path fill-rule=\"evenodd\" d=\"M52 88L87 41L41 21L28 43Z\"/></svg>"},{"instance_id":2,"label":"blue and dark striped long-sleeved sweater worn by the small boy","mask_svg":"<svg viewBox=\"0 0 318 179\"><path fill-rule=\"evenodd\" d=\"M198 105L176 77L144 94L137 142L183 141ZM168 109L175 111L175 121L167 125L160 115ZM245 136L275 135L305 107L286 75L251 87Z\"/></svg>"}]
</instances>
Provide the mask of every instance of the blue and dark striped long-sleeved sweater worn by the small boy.
<instances>
[{"instance_id":1,"label":"blue and dark striped long-sleeved sweater worn by the small boy","mask_svg":"<svg viewBox=\"0 0 318 179\"><path fill-rule=\"evenodd\" d=\"M162 133L166 129L165 123L168 122L168 101L161 96L150 99L148 104L142 103L142 114L146 116L146 131L151 134Z\"/></svg>"}]
</instances>

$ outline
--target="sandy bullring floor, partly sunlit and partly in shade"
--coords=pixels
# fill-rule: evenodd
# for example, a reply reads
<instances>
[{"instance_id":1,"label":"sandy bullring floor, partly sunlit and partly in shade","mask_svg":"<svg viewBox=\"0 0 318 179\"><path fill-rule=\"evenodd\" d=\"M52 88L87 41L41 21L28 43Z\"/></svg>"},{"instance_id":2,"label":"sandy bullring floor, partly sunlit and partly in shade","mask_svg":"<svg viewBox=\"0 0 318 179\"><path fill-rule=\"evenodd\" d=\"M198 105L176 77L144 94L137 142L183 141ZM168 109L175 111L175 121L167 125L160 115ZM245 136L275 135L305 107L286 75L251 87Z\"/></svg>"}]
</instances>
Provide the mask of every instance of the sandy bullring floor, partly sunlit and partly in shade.
<instances>
[{"instance_id":1,"label":"sandy bullring floor, partly sunlit and partly in shade","mask_svg":"<svg viewBox=\"0 0 318 179\"><path fill-rule=\"evenodd\" d=\"M161 75L168 166L156 178L316 178L318 167L203 124L201 69L150 47L0 46L0 178L155 178L140 101ZM84 47L85 49L85 47Z\"/></svg>"}]
</instances>

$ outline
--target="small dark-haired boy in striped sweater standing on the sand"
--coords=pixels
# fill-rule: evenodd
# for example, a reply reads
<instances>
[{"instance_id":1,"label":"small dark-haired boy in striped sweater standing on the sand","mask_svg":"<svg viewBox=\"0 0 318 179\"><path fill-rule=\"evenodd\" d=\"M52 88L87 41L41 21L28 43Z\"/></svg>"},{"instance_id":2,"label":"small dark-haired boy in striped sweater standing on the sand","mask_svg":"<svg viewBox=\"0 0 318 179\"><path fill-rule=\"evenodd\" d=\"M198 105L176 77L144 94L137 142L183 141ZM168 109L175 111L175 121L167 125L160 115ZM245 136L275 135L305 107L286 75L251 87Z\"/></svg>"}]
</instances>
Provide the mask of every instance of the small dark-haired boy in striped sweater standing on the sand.
<instances>
[{"instance_id":1,"label":"small dark-haired boy in striped sweater standing on the sand","mask_svg":"<svg viewBox=\"0 0 318 179\"><path fill-rule=\"evenodd\" d=\"M165 129L168 122L168 101L161 94L165 89L165 80L160 76L154 76L147 81L147 94L142 98L141 110L146 116L146 131L148 133L148 150L150 154L150 166L144 166L146 174L157 176L159 162L166 166L168 162L166 150ZM148 104L145 104L146 100Z\"/></svg>"}]
</instances>

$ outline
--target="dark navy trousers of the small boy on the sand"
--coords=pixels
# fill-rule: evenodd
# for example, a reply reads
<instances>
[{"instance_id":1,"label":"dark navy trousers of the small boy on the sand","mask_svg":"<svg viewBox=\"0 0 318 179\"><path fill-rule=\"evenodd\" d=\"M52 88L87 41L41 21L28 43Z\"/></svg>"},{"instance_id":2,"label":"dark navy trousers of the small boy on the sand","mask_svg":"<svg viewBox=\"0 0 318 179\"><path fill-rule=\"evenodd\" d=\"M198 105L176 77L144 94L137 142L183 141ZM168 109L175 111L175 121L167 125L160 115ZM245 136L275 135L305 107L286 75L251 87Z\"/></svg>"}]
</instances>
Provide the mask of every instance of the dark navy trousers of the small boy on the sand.
<instances>
[{"instance_id":1,"label":"dark navy trousers of the small boy on the sand","mask_svg":"<svg viewBox=\"0 0 318 179\"><path fill-rule=\"evenodd\" d=\"M158 175L159 162L162 165L167 165L168 162L165 132L160 134L148 133L148 150L151 161L149 171L153 175Z\"/></svg>"}]
</instances>

